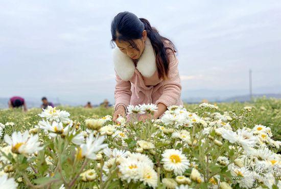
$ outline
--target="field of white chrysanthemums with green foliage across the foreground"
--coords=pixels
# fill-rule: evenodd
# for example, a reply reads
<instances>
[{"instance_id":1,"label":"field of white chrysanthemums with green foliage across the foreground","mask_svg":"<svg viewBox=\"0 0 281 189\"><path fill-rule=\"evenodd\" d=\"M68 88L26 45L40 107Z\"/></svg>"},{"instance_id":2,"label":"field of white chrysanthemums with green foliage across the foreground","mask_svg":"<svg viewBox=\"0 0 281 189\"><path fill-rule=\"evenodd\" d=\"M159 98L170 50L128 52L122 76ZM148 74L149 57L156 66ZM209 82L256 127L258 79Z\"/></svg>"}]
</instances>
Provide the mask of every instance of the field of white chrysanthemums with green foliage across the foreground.
<instances>
[{"instance_id":1,"label":"field of white chrysanthemums with green foliage across the foreground","mask_svg":"<svg viewBox=\"0 0 281 189\"><path fill-rule=\"evenodd\" d=\"M0 188L281 188L281 101L0 110Z\"/></svg>"}]
</instances>

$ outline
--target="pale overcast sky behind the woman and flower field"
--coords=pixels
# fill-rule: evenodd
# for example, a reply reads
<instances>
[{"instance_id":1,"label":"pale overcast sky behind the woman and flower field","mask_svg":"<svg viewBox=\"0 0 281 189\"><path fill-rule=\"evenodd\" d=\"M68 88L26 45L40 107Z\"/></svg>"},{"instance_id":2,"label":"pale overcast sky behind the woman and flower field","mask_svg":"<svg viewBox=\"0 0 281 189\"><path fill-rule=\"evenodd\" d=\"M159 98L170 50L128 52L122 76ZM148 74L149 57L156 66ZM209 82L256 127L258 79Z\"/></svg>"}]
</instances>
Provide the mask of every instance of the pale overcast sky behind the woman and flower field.
<instances>
[{"instance_id":1,"label":"pale overcast sky behind the woman and flower field","mask_svg":"<svg viewBox=\"0 0 281 189\"><path fill-rule=\"evenodd\" d=\"M207 90L244 95L250 68L254 93L281 92L278 0L0 0L0 8L0 97L114 103L110 23L123 11L175 43L182 98Z\"/></svg>"}]
</instances>

